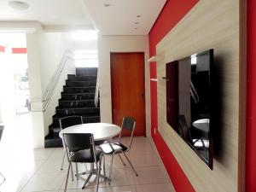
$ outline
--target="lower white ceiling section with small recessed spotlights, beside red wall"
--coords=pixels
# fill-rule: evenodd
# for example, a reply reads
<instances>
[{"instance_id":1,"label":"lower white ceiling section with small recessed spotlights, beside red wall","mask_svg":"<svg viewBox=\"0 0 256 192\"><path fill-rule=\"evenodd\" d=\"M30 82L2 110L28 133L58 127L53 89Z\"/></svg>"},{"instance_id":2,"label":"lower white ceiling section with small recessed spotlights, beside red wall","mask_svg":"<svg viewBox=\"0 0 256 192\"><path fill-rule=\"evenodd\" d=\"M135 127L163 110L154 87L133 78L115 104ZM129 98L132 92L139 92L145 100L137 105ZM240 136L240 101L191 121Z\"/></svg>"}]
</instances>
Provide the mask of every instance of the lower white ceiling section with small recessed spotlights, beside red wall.
<instances>
[{"instance_id":1,"label":"lower white ceiling section with small recessed spotlights, beside red wall","mask_svg":"<svg viewBox=\"0 0 256 192\"><path fill-rule=\"evenodd\" d=\"M166 0L83 1L92 22L103 35L148 34L166 3ZM105 4L110 6L105 7ZM141 17L137 18L137 15Z\"/></svg>"}]
</instances>

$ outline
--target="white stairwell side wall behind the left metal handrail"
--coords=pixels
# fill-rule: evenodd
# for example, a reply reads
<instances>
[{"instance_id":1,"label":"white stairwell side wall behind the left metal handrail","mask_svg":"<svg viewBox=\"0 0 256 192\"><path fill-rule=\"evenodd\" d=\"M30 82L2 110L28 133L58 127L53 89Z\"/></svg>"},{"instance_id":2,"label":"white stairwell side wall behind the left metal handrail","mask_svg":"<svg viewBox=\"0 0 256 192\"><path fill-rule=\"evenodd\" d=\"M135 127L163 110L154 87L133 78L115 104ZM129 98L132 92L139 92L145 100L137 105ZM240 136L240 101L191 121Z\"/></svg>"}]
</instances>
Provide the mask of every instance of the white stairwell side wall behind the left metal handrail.
<instances>
[{"instance_id":1,"label":"white stairwell side wall behind the left metal handrail","mask_svg":"<svg viewBox=\"0 0 256 192\"><path fill-rule=\"evenodd\" d=\"M55 71L57 70L61 57L67 49L73 49L73 40L69 33L61 32L42 32L39 38L40 45L40 72L41 72L41 86L43 96L50 84ZM49 102L49 107L44 112L44 136L49 133L49 125L52 123L52 115L55 114L55 107L58 106L58 100L61 98L61 91L67 79L67 74L75 74L75 67L73 59L69 58L66 62L61 77L56 84L55 92ZM45 103L44 103L45 104Z\"/></svg>"}]
</instances>

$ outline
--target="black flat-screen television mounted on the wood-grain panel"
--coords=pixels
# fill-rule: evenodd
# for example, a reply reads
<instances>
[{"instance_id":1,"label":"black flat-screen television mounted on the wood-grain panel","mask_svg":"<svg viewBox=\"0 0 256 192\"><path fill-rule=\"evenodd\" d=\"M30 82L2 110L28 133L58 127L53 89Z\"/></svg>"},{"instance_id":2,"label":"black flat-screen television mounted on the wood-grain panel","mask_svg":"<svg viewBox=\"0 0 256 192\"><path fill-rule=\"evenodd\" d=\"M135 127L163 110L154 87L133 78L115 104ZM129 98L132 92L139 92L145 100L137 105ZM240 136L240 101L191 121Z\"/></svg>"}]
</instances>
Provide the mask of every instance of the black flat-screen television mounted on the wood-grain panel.
<instances>
[{"instance_id":1,"label":"black flat-screen television mounted on the wood-grain panel","mask_svg":"<svg viewBox=\"0 0 256 192\"><path fill-rule=\"evenodd\" d=\"M213 168L213 49L166 64L166 117L184 142Z\"/></svg>"}]
</instances>

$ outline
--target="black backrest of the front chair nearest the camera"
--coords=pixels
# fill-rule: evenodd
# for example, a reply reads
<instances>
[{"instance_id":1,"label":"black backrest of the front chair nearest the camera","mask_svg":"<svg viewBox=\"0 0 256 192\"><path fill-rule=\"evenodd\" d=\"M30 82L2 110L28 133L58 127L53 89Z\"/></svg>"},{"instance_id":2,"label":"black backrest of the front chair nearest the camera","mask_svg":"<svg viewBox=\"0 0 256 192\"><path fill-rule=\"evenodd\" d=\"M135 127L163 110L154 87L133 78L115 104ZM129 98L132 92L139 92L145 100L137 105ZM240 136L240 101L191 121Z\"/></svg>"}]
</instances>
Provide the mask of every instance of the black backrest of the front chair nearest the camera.
<instances>
[{"instance_id":1,"label":"black backrest of the front chair nearest the camera","mask_svg":"<svg viewBox=\"0 0 256 192\"><path fill-rule=\"evenodd\" d=\"M91 133L64 133L63 143L67 154L78 152L79 150L89 149L96 162L96 149L94 137ZM70 155L68 155L70 156Z\"/></svg>"}]
</instances>

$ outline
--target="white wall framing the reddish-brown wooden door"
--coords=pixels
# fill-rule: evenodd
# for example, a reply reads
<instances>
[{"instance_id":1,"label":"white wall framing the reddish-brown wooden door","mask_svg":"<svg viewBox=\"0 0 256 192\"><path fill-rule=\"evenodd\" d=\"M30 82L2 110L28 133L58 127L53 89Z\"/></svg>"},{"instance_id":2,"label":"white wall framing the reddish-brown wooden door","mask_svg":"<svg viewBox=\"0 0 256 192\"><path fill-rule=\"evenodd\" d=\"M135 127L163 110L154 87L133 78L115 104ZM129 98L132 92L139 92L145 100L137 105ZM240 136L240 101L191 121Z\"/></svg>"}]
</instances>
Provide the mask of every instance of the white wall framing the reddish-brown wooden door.
<instances>
[{"instance_id":1,"label":"white wall framing the reddish-brown wooden door","mask_svg":"<svg viewBox=\"0 0 256 192\"><path fill-rule=\"evenodd\" d=\"M145 53L145 106L146 135L150 136L150 87L148 64L148 36L101 36L98 37L99 84L101 94L101 120L112 122L110 52Z\"/></svg>"}]
</instances>

